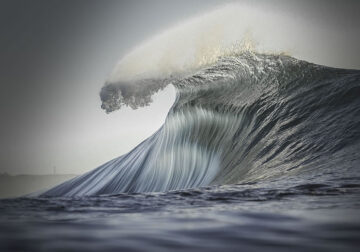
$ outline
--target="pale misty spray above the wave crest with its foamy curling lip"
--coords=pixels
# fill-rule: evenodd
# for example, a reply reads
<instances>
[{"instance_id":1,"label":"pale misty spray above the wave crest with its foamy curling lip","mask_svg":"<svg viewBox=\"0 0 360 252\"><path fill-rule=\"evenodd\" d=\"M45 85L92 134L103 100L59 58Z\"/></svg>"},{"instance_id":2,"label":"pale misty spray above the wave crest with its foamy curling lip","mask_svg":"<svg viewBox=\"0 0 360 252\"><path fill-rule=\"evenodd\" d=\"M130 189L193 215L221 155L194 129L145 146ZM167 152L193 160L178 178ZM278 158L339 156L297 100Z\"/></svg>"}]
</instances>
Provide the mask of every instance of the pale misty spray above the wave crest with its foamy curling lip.
<instances>
[{"instance_id":1,"label":"pale misty spray above the wave crest with its foamy curling lip","mask_svg":"<svg viewBox=\"0 0 360 252\"><path fill-rule=\"evenodd\" d=\"M244 51L285 53L329 65L325 33L316 23L309 25L280 10L246 4L216 8L169 27L126 54L101 90L102 108L109 113L123 105L146 106L171 80Z\"/></svg>"}]
</instances>

